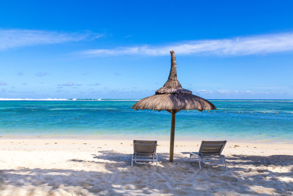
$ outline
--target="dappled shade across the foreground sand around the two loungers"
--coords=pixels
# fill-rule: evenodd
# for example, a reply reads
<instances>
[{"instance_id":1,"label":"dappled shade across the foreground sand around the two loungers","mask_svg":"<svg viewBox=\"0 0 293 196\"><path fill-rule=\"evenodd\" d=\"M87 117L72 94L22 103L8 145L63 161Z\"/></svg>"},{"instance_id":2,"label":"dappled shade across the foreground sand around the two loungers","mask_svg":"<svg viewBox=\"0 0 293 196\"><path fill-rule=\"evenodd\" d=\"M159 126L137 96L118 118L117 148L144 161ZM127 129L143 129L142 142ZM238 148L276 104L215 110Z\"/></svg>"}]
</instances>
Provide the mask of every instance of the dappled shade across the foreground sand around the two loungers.
<instances>
[{"instance_id":1,"label":"dappled shade across the foreground sand around the two loungers","mask_svg":"<svg viewBox=\"0 0 293 196\"><path fill-rule=\"evenodd\" d=\"M92 154L93 160L68 160L84 170L0 170L0 194L20 191L20 195L293 195L293 156L227 156L226 171L224 165L202 165L200 170L197 161L190 163L183 154L185 157L175 155L174 162L169 163L168 153L159 153L158 167L131 167L130 154L103 150Z\"/></svg>"}]
</instances>

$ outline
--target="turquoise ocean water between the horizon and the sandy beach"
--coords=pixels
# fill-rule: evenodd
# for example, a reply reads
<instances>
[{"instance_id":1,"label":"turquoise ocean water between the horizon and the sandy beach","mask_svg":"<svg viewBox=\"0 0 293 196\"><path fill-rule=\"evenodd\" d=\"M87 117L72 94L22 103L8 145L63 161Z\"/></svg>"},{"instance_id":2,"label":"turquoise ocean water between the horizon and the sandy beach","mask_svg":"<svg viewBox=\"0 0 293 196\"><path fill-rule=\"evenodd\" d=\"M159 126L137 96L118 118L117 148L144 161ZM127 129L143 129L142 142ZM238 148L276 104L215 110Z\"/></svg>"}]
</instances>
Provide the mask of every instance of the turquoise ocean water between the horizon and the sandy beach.
<instances>
[{"instance_id":1,"label":"turquoise ocean water between the horizon and the sandy beach","mask_svg":"<svg viewBox=\"0 0 293 196\"><path fill-rule=\"evenodd\" d=\"M169 140L171 114L136 101L2 99L0 136ZM176 113L175 140L293 143L293 100L210 101L217 110Z\"/></svg>"}]
</instances>

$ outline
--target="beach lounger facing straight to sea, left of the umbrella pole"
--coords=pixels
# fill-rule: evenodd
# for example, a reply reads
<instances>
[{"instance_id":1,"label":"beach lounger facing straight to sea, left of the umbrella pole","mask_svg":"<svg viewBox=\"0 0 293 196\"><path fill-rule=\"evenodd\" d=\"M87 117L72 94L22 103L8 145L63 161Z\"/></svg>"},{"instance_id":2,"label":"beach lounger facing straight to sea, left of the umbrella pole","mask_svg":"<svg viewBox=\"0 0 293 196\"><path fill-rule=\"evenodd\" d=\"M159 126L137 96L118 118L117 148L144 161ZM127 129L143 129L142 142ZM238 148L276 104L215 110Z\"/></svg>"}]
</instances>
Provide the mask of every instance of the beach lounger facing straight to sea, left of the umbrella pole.
<instances>
[{"instance_id":1,"label":"beach lounger facing straight to sea, left of the umbrella pole","mask_svg":"<svg viewBox=\"0 0 293 196\"><path fill-rule=\"evenodd\" d=\"M158 167L158 155L156 154L157 141L145 141L145 140L133 140L134 153L131 157L131 167L133 161L139 164L152 164L156 161L156 167ZM156 159L155 159L156 156ZM139 161L139 162L137 162ZM151 163L142 163L152 161Z\"/></svg>"}]
</instances>

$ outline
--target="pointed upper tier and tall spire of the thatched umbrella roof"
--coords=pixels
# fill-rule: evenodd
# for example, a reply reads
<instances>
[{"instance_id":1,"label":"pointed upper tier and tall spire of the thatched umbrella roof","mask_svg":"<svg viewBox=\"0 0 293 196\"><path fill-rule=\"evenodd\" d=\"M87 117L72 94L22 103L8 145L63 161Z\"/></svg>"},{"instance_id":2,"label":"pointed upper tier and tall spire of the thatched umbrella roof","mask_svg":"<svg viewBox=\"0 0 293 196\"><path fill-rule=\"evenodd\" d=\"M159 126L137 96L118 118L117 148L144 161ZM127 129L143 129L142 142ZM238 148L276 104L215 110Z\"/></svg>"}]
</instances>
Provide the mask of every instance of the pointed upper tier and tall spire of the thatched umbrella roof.
<instances>
[{"instance_id":1,"label":"pointed upper tier and tall spire of the thatched umbrella roof","mask_svg":"<svg viewBox=\"0 0 293 196\"><path fill-rule=\"evenodd\" d=\"M156 91L156 95L159 94L191 94L191 91L188 91L184 88L182 88L180 82L177 78L177 71L176 71L176 57L175 52L172 50L171 53L171 70L169 74L169 78L167 82L164 84L162 88L159 88Z\"/></svg>"}]
</instances>

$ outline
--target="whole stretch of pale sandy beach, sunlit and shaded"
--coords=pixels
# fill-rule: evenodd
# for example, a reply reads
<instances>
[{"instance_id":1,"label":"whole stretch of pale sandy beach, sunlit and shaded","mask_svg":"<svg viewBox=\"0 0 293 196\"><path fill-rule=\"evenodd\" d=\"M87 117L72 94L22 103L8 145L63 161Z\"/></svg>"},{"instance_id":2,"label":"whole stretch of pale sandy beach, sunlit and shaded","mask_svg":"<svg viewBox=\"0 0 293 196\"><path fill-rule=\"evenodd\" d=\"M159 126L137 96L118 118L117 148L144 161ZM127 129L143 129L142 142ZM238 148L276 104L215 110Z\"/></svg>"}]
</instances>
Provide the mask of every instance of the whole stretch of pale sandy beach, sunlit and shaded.
<instances>
[{"instance_id":1,"label":"whole stretch of pale sandy beach, sunlit and shaded","mask_svg":"<svg viewBox=\"0 0 293 196\"><path fill-rule=\"evenodd\" d=\"M169 163L158 141L158 167L131 167L132 140L1 138L0 195L293 195L292 144L228 141L228 170L190 163L199 145L175 141Z\"/></svg>"}]
</instances>

